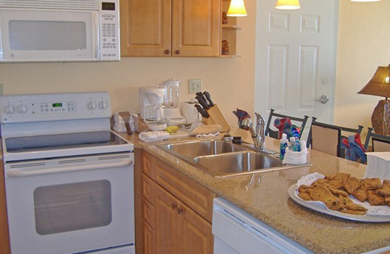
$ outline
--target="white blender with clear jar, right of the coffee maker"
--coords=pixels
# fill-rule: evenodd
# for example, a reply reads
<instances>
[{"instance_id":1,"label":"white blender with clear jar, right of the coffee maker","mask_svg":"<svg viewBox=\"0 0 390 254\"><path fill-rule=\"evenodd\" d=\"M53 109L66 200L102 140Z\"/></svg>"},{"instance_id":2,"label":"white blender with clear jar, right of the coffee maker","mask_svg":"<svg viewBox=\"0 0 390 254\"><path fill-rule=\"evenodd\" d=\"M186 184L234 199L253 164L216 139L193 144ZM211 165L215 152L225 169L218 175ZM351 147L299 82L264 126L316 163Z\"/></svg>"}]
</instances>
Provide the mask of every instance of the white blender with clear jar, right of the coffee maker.
<instances>
[{"instance_id":1,"label":"white blender with clear jar, right of the coffee maker","mask_svg":"<svg viewBox=\"0 0 390 254\"><path fill-rule=\"evenodd\" d=\"M186 123L186 119L181 115L179 108L179 85L180 81L168 79L163 81L158 87L166 89L165 96L165 122L167 125L181 125Z\"/></svg>"}]
</instances>

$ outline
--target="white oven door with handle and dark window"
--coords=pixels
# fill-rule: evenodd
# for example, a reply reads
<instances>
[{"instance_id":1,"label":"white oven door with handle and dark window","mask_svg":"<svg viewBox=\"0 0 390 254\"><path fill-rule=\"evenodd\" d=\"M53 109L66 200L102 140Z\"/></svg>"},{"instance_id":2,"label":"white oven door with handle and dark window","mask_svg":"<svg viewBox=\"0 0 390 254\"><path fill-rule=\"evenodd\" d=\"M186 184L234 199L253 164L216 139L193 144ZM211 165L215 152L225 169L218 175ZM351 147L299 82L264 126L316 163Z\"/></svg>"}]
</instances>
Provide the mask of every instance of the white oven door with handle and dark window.
<instances>
[{"instance_id":1,"label":"white oven door with handle and dark window","mask_svg":"<svg viewBox=\"0 0 390 254\"><path fill-rule=\"evenodd\" d=\"M11 252L134 249L133 162L122 152L6 163Z\"/></svg>"}]
</instances>

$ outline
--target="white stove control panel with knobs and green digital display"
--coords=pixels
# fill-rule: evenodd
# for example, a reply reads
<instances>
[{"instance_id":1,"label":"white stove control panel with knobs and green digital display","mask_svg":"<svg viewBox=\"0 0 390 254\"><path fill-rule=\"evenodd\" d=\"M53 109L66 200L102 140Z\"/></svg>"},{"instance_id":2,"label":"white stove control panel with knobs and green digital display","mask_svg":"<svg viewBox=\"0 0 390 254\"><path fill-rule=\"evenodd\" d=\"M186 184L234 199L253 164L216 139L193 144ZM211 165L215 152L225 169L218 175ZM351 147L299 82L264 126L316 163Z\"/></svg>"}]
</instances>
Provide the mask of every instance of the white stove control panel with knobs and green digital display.
<instances>
[{"instance_id":1,"label":"white stove control panel with knobs and green digital display","mask_svg":"<svg viewBox=\"0 0 390 254\"><path fill-rule=\"evenodd\" d=\"M107 92L0 96L0 123L63 121L111 117Z\"/></svg>"}]
</instances>

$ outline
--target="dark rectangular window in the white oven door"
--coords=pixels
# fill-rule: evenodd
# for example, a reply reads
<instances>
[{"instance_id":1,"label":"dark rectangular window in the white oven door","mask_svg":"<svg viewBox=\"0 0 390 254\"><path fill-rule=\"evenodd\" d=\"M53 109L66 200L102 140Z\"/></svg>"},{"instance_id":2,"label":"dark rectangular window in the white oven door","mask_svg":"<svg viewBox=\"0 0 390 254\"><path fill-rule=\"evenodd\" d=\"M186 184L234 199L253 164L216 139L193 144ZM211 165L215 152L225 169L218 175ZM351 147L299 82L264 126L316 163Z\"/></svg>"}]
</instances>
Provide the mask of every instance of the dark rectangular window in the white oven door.
<instances>
[{"instance_id":1,"label":"dark rectangular window in the white oven door","mask_svg":"<svg viewBox=\"0 0 390 254\"><path fill-rule=\"evenodd\" d=\"M39 187L34 207L41 235L107 226L112 221L111 184L98 180Z\"/></svg>"}]
</instances>

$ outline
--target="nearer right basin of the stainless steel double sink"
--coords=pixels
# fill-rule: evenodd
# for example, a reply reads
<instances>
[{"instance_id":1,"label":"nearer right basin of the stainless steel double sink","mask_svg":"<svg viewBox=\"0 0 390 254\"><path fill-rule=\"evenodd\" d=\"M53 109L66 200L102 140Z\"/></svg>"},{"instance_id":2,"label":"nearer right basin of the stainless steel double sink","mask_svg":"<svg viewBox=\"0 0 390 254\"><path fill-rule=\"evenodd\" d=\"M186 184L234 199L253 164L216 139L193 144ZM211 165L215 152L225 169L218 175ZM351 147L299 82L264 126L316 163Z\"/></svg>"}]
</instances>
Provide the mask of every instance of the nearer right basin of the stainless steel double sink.
<instances>
[{"instance_id":1,"label":"nearer right basin of the stainless steel double sink","mask_svg":"<svg viewBox=\"0 0 390 254\"><path fill-rule=\"evenodd\" d=\"M255 151L240 151L218 155L195 157L194 161L207 168L213 175L235 175L284 167L278 158Z\"/></svg>"}]
</instances>

